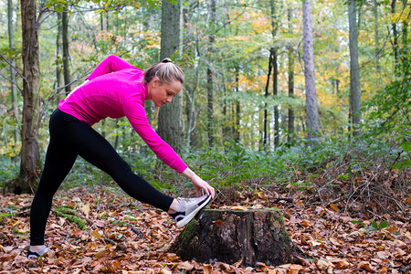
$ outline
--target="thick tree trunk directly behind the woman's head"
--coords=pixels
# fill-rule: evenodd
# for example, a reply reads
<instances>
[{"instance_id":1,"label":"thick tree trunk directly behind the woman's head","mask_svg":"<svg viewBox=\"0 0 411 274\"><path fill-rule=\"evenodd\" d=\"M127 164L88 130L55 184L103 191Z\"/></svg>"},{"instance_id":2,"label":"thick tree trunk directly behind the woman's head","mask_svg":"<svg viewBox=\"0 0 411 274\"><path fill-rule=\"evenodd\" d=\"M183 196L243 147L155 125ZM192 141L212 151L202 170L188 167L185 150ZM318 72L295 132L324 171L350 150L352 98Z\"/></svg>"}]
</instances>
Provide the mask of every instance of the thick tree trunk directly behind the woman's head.
<instances>
[{"instance_id":1,"label":"thick tree trunk directly behind the woman's head","mask_svg":"<svg viewBox=\"0 0 411 274\"><path fill-rule=\"evenodd\" d=\"M170 58L180 46L180 0L176 4L163 1L162 5L162 35L160 58ZM181 94L174 96L174 100L160 108L158 116L158 134L170 144L176 152L181 146Z\"/></svg>"}]
</instances>

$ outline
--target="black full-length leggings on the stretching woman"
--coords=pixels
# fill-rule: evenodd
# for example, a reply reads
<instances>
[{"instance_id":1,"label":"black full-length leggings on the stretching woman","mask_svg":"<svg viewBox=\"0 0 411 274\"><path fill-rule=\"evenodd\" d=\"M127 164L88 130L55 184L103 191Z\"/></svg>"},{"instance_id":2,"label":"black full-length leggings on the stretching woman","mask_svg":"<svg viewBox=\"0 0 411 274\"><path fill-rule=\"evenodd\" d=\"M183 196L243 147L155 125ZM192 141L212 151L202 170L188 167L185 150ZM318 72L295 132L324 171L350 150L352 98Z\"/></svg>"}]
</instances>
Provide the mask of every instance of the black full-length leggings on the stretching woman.
<instances>
[{"instance_id":1,"label":"black full-length leggings on the stretching woman","mask_svg":"<svg viewBox=\"0 0 411 274\"><path fill-rule=\"evenodd\" d=\"M44 245L44 233L53 195L81 156L102 171L133 198L168 211L172 197L163 195L142 177L134 174L110 142L84 121L56 110L50 118L50 142L43 174L38 184L30 212L30 245Z\"/></svg>"}]
</instances>

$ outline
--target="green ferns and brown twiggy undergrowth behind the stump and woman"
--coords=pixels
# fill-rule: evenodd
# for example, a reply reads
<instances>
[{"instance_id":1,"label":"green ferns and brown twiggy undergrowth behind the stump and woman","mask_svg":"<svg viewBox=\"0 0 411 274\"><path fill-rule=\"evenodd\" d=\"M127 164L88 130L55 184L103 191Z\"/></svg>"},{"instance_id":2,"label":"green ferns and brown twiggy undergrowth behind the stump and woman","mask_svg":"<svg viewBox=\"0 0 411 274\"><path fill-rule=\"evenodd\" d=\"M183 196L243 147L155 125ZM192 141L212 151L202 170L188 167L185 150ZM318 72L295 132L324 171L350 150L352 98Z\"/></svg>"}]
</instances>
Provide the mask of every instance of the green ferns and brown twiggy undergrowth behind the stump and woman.
<instances>
[{"instance_id":1,"label":"green ferns and brown twiggy undergrowth behind the stump and woman","mask_svg":"<svg viewBox=\"0 0 411 274\"><path fill-rule=\"evenodd\" d=\"M243 192L275 191L299 195L313 204L340 203L340 208L356 214L405 212L411 193L409 147L372 138L321 139L311 146L305 140L285 142L271 152L226 143L219 149L186 149L180 155L216 187L217 199L225 202L235 202ZM194 195L191 183L152 152L121 156L157 189L170 195ZM5 160L1 164L10 166ZM4 182L16 175L16 168L3 168L0 175ZM101 184L121 192L109 175L79 158L62 188Z\"/></svg>"}]
</instances>

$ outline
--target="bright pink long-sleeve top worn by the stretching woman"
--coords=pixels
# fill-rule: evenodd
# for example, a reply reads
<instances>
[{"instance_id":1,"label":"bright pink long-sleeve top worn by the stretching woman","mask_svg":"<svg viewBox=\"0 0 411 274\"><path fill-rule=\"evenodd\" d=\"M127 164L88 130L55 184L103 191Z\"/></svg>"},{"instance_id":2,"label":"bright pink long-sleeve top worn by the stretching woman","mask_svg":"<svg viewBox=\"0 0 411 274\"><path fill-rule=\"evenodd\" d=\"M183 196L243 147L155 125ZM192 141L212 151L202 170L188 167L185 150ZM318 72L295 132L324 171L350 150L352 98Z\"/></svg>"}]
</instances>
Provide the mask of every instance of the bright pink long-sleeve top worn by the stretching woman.
<instances>
[{"instance_id":1,"label":"bright pink long-sleeve top worn by the stretching woman","mask_svg":"<svg viewBox=\"0 0 411 274\"><path fill-rule=\"evenodd\" d=\"M144 72L116 56L105 58L87 79L90 81L58 102L58 109L90 126L107 117L127 117L132 128L163 163L178 173L187 165L164 142L147 120L144 100L147 84L142 84Z\"/></svg>"}]
</instances>

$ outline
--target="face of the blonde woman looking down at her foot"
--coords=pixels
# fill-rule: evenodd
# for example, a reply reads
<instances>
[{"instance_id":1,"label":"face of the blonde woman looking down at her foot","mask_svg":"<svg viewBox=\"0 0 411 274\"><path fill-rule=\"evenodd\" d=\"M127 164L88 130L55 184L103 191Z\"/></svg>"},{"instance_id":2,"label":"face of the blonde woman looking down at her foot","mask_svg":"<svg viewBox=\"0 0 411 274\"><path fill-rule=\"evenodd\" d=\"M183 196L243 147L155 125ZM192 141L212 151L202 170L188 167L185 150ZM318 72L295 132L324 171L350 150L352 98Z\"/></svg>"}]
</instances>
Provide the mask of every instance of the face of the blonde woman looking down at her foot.
<instances>
[{"instance_id":1,"label":"face of the blonde woman looking down at her foot","mask_svg":"<svg viewBox=\"0 0 411 274\"><path fill-rule=\"evenodd\" d=\"M147 85L148 99L153 100L156 107L161 107L163 104L171 102L173 97L183 88L180 81L174 80L170 83L160 83L158 78L154 78Z\"/></svg>"}]
</instances>

